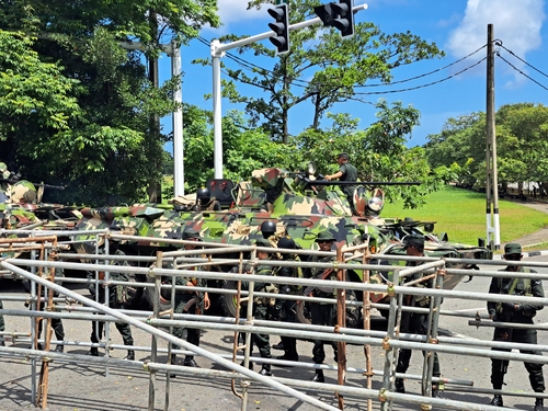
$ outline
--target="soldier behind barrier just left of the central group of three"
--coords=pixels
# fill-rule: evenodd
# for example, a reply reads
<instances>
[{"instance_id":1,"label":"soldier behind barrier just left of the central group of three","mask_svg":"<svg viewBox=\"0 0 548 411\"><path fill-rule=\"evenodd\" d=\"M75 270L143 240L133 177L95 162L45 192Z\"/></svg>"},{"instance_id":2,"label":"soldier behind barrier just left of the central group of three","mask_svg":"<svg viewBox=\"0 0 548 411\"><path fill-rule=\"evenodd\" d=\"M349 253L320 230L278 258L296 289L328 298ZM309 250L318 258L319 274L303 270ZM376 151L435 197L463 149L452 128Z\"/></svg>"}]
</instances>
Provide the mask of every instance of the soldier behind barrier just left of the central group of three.
<instances>
[{"instance_id":1,"label":"soldier behind barrier just left of the central group of three","mask_svg":"<svg viewBox=\"0 0 548 411\"><path fill-rule=\"evenodd\" d=\"M202 238L199 237L199 232L197 232L194 229L186 229L183 231L183 240L187 241L202 241ZM184 249L185 250L196 250L197 244L185 244ZM167 282L168 284L171 284L171 279ZM187 287L194 287L194 286L205 286L205 279L203 278L189 278L189 277L176 277L175 285L185 285ZM202 297L203 297L203 304L202 304ZM186 309L185 307L187 304L192 300L195 299L195 304L192 305L190 308ZM187 312L191 315L198 315L201 313L203 309L208 309L209 308L209 296L207 293L202 292L189 292L189 290L176 290L175 292L175 313L183 313ZM203 306L203 308L202 308ZM183 338L183 328L182 327L175 327L173 328L173 335L176 338L182 339ZM186 342L194 344L196 346L199 346L199 336L201 336L201 331L197 329L186 329ZM173 350L179 350L179 345L173 345ZM176 364L176 354L171 354L171 364ZM187 367L196 367L199 368L199 366L196 364L194 361L193 355L186 355L184 357L183 365ZM171 377L174 377L174 374L171 375Z\"/></svg>"}]
</instances>

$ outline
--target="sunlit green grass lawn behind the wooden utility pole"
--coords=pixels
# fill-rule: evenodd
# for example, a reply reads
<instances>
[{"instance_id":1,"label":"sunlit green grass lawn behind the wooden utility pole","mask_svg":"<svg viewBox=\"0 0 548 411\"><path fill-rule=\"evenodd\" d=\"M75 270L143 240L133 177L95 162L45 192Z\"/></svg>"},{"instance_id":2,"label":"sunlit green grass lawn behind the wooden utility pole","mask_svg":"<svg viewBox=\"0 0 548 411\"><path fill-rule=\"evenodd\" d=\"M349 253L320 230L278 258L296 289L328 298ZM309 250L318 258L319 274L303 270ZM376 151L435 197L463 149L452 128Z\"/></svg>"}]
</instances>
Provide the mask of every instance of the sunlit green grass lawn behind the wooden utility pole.
<instances>
[{"instance_id":1,"label":"sunlit green grass lawn behind the wooden utility pole","mask_svg":"<svg viewBox=\"0 0 548 411\"><path fill-rule=\"evenodd\" d=\"M505 199L499 201L501 243L516 240L548 226L548 214ZM487 238L486 194L453 186L432 193L419 209L403 209L402 204L385 204L383 217L412 217L437 221L434 231L447 232L449 241L477 244Z\"/></svg>"}]
</instances>

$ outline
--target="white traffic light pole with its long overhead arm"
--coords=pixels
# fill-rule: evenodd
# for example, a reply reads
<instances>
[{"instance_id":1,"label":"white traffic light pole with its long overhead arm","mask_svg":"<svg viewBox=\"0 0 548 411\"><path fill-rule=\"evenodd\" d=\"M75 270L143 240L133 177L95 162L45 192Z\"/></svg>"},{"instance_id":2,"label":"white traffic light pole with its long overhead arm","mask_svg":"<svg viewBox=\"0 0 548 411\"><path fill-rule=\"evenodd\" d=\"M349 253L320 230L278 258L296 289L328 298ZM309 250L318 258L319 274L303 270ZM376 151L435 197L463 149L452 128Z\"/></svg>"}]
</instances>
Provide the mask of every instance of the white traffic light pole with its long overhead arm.
<instances>
[{"instance_id":1,"label":"white traffic light pole with its long overhead arm","mask_svg":"<svg viewBox=\"0 0 548 411\"><path fill-rule=\"evenodd\" d=\"M354 13L366 10L367 4L359 4L352 9ZM310 19L304 22L289 25L289 31L305 28L318 23L322 23L320 18ZM220 85L220 59L225 57L226 52L232 48L243 47L248 44L261 42L265 38L276 36L273 31L261 33L251 37L242 38L237 42L221 44L218 39L210 43L212 65L213 65L213 119L214 119L214 167L215 179L222 179L222 112L221 112L221 85Z\"/></svg>"}]
</instances>

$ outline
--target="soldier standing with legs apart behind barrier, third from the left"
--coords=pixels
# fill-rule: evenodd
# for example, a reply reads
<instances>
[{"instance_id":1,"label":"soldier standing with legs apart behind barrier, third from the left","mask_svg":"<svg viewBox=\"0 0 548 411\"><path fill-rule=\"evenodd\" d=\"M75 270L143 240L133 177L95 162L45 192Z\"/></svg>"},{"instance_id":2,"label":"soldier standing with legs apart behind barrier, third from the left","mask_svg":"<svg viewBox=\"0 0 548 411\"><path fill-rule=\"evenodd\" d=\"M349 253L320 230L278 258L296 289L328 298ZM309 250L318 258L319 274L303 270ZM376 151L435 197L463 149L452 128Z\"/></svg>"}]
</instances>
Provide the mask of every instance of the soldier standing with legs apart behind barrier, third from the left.
<instances>
[{"instance_id":1,"label":"soldier standing with legs apart behind barrier, third from the left","mask_svg":"<svg viewBox=\"0 0 548 411\"><path fill-rule=\"evenodd\" d=\"M101 250L102 253L104 253L104 250ZM122 250L119 250L119 242L116 240L111 239L110 242L110 253L113 255L126 255ZM128 266L128 262L124 260L111 260L111 261L104 261L104 263L107 263L110 265L121 265L121 266ZM99 273L100 279L104 278L104 273ZM103 277L103 278L101 278ZM128 282L130 278L130 274L128 273L119 273L115 271L110 272L110 278L111 281L117 281L117 282ZM88 272L88 279L94 279L94 273L93 272ZM104 304L106 301L106 295L105 295L105 284L100 285L99 289L99 296L95 294L95 283L91 282L88 285L88 288L91 293L91 296L93 299L96 301ZM109 287L109 306L110 308L125 308L125 304L128 300L128 290L127 287L124 285L111 285ZM116 329L118 330L119 334L122 335L122 340L124 341L124 345L132 346L134 345L134 339L132 336L132 329L129 328L129 324L127 322L115 322ZM91 322L91 342L98 343L101 341L101 338L103 336L103 329L104 329L104 322L103 321L92 321ZM89 351L88 355L93 355L93 356L99 356L99 350L96 346L92 346L91 350ZM135 359L135 351L134 350L128 350L127 355L124 357L124 359L128 361L134 361Z\"/></svg>"}]
</instances>

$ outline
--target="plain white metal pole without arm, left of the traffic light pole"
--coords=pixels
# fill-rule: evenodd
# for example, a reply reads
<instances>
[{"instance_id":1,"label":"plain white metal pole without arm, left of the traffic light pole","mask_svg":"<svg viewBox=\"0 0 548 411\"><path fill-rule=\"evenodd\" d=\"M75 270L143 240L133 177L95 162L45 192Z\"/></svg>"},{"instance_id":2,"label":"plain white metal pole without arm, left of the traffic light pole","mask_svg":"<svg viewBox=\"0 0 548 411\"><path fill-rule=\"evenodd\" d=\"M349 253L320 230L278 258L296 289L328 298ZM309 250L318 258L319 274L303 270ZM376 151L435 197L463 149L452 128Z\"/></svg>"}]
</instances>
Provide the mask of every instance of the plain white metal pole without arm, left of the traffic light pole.
<instances>
[{"instance_id":1,"label":"plain white metal pole without arm, left of the traffic light pole","mask_svg":"<svg viewBox=\"0 0 548 411\"><path fill-rule=\"evenodd\" d=\"M182 76L181 47L171 42L171 78ZM184 195L184 145L183 145L183 82L173 93L173 102L179 105L173 111L173 191L174 196Z\"/></svg>"}]
</instances>

